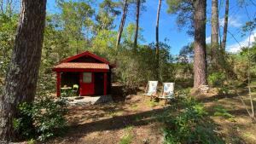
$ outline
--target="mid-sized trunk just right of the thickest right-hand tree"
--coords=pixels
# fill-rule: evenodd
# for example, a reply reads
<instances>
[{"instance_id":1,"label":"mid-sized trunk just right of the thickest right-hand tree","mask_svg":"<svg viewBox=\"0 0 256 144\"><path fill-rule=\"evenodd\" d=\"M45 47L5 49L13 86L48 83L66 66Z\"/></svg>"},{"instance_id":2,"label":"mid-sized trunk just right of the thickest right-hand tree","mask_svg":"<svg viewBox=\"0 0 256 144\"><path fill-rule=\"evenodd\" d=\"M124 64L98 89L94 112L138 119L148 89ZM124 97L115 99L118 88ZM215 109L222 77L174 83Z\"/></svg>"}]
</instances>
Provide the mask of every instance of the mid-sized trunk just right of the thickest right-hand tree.
<instances>
[{"instance_id":1,"label":"mid-sized trunk just right of the thickest right-hand tree","mask_svg":"<svg viewBox=\"0 0 256 144\"><path fill-rule=\"evenodd\" d=\"M218 0L212 0L211 60L213 68L218 67Z\"/></svg>"}]
</instances>

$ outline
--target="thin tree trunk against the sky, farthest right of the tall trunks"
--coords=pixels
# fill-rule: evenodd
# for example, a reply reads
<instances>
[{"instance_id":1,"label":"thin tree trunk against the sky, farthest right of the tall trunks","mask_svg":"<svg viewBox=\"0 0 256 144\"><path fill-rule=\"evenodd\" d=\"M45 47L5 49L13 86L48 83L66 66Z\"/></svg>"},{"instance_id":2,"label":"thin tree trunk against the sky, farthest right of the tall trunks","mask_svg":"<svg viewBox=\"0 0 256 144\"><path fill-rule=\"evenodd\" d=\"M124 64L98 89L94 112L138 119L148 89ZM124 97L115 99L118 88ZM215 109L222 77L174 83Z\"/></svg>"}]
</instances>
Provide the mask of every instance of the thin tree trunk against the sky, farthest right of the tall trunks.
<instances>
[{"instance_id":1,"label":"thin tree trunk against the sky, farthest right of the tall trunks","mask_svg":"<svg viewBox=\"0 0 256 144\"><path fill-rule=\"evenodd\" d=\"M226 49L226 42L227 42L227 32L228 32L228 23L229 23L229 0L226 0L225 5L225 17L224 17L224 29L223 29L223 40L221 43L221 50L224 52Z\"/></svg>"}]
</instances>

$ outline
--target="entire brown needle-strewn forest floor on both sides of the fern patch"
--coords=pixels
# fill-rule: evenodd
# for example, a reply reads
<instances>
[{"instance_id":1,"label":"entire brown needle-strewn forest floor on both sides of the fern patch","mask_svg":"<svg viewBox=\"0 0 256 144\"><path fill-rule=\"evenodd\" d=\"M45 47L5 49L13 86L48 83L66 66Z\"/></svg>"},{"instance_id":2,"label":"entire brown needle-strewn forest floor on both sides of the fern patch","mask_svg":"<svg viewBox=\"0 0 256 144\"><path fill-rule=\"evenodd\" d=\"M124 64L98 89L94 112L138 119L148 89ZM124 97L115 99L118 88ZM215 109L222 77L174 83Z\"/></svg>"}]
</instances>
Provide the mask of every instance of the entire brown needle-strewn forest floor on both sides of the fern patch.
<instances>
[{"instance_id":1,"label":"entire brown needle-strewn forest floor on both sides of the fern patch","mask_svg":"<svg viewBox=\"0 0 256 144\"><path fill-rule=\"evenodd\" d=\"M256 143L256 124L247 117L239 97L211 92L201 101L226 143ZM224 112L216 114L218 108ZM163 124L154 117L166 110L164 101L155 102L143 95L129 95L125 101L69 107L69 110L65 134L47 143L158 144L164 141Z\"/></svg>"}]
</instances>

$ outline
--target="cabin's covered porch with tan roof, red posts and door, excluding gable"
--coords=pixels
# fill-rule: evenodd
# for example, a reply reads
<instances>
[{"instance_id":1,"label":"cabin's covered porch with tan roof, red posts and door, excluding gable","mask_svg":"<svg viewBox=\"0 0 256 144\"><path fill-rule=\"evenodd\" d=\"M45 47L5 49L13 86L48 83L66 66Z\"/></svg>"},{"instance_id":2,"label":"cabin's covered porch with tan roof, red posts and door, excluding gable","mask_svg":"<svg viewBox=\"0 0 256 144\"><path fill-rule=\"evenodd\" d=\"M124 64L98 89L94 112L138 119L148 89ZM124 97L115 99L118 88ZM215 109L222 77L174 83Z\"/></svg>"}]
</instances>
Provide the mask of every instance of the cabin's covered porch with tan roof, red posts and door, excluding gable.
<instances>
[{"instance_id":1,"label":"cabin's covered porch with tan roof, red posts and door, excluding gable","mask_svg":"<svg viewBox=\"0 0 256 144\"><path fill-rule=\"evenodd\" d=\"M77 66L77 67L76 67ZM61 63L55 66L56 95L62 89L72 89L78 85L75 95L108 95L111 89L111 71L108 65L98 63Z\"/></svg>"}]
</instances>

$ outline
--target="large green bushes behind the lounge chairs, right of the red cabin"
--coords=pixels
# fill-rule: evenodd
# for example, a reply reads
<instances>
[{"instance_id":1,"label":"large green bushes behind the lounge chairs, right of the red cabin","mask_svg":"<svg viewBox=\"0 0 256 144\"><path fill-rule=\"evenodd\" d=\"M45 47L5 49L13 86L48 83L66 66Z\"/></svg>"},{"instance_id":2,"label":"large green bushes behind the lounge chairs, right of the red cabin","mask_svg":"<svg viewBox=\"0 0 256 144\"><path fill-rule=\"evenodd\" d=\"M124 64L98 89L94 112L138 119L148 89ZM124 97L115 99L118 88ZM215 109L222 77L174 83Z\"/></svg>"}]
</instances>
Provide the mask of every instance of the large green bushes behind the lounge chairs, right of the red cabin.
<instances>
[{"instance_id":1,"label":"large green bushes behind the lounge chairs, right of the red cabin","mask_svg":"<svg viewBox=\"0 0 256 144\"><path fill-rule=\"evenodd\" d=\"M160 43L160 67L155 69L154 43L148 46L139 46L136 54L132 47L119 48L118 54L113 56L117 61L114 69L116 80L125 85L125 89L137 89L139 85L146 84L148 80L154 80L156 71L160 73L159 81L171 81L172 76L172 55L170 46Z\"/></svg>"}]
</instances>

